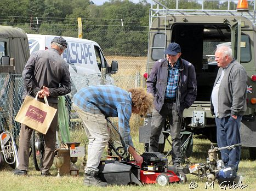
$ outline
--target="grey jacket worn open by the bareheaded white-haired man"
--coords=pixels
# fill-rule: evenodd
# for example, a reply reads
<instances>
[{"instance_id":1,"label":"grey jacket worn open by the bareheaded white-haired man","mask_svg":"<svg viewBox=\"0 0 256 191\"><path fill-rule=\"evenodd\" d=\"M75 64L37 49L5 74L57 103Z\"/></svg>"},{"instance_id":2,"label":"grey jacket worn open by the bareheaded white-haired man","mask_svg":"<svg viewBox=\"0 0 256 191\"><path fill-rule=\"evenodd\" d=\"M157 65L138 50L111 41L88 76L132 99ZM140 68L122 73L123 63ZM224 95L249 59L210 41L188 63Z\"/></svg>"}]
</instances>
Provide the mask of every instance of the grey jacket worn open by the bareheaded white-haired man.
<instances>
[{"instance_id":1,"label":"grey jacket worn open by the bareheaded white-haired man","mask_svg":"<svg viewBox=\"0 0 256 191\"><path fill-rule=\"evenodd\" d=\"M216 85L223 68L219 68L214 82ZM243 116L246 112L246 94L247 94L247 73L243 66L235 61L227 67L224 77L221 80L218 93L219 118L230 115ZM214 115L214 108L211 101L211 113Z\"/></svg>"}]
</instances>

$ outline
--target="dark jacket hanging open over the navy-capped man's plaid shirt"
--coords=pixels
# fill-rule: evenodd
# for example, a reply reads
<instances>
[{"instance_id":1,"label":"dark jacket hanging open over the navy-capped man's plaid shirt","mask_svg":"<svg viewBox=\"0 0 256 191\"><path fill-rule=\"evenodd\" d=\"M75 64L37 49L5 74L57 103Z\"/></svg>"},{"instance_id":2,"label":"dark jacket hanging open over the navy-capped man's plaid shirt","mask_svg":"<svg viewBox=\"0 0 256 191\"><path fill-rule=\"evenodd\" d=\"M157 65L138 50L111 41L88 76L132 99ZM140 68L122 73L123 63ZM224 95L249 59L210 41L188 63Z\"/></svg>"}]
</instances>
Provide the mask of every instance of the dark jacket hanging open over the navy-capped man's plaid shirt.
<instances>
[{"instance_id":1,"label":"dark jacket hanging open over the navy-capped man's plaid shirt","mask_svg":"<svg viewBox=\"0 0 256 191\"><path fill-rule=\"evenodd\" d=\"M189 108L196 99L197 83L194 65L185 59L180 59L180 76L177 88L176 106L178 115L183 114L185 108ZM164 104L164 94L168 78L167 59L160 59L153 65L149 78L147 79L147 92L154 96L155 109L160 112Z\"/></svg>"}]
</instances>

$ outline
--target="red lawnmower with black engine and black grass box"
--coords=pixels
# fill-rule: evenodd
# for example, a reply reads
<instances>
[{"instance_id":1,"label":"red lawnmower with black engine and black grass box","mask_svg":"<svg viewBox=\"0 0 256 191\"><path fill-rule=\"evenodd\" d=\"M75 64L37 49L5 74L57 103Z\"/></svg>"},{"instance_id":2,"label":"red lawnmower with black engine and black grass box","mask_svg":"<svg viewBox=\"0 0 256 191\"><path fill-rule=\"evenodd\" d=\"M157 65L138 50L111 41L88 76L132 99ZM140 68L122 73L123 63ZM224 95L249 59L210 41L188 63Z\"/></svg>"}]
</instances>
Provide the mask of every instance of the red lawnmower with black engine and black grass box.
<instances>
[{"instance_id":1,"label":"red lawnmower with black engine and black grass box","mask_svg":"<svg viewBox=\"0 0 256 191\"><path fill-rule=\"evenodd\" d=\"M115 129L115 132L118 132L110 121L109 123ZM109 140L109 155L112 156L111 151L114 151L118 157L104 157L104 160L101 160L98 168L99 177L102 181L116 185L157 183L160 186L166 186L173 182L185 183L187 181L185 173L182 171L177 172L177 169L173 168L173 166L168 166L166 156L159 152L141 154L141 157L143 157L141 165L136 164L134 161L129 161L129 154L124 152L121 142L117 143L112 138Z\"/></svg>"}]
</instances>

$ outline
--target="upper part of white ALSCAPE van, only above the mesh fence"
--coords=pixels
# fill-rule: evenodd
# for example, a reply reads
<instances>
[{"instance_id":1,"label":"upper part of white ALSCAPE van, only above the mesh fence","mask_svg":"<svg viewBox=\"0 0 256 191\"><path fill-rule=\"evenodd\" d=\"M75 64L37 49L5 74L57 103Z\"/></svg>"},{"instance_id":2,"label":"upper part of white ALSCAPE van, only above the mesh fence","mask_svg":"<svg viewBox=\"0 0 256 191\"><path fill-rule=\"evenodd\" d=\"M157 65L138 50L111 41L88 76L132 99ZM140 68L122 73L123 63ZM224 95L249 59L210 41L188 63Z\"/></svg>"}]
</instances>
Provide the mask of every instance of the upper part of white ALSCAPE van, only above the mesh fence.
<instances>
[{"instance_id":1,"label":"upper part of white ALSCAPE van, only above the mesh fence","mask_svg":"<svg viewBox=\"0 0 256 191\"><path fill-rule=\"evenodd\" d=\"M30 53L48 49L54 37L56 36L27 34ZM109 67L98 43L87 39L63 38L67 41L67 49L61 56L70 65L71 77L98 74L99 79L102 79L101 74L105 73L106 80L104 81L113 82L110 74L117 73L118 64L112 61Z\"/></svg>"}]
</instances>

